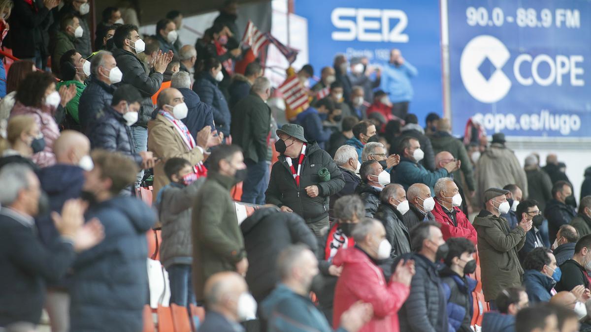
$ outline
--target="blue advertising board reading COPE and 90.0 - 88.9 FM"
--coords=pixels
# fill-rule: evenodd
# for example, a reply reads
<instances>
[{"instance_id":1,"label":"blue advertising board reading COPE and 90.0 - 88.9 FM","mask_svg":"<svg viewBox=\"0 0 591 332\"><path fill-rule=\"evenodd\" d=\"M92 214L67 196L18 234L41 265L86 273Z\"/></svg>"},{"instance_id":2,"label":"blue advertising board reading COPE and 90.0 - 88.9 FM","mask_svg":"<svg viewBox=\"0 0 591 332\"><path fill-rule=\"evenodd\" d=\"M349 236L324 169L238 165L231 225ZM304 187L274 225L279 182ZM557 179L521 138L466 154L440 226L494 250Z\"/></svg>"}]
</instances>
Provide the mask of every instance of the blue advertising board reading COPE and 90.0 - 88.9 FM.
<instances>
[{"instance_id":1,"label":"blue advertising board reading COPE and 90.0 - 88.9 FM","mask_svg":"<svg viewBox=\"0 0 591 332\"><path fill-rule=\"evenodd\" d=\"M453 132L474 116L489 134L591 136L591 2L453 0Z\"/></svg>"}]
</instances>

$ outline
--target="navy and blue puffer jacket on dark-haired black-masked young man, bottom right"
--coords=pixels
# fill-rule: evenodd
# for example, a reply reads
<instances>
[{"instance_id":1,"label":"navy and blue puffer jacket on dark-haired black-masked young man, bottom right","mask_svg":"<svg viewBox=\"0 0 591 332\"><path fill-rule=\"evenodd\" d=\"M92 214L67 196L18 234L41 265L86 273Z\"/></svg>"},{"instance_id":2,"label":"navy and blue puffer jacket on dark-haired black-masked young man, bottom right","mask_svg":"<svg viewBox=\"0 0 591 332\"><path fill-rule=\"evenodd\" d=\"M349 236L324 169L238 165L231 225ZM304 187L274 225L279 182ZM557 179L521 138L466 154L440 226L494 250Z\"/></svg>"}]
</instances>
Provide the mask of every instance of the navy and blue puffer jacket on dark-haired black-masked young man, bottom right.
<instances>
[{"instance_id":1,"label":"navy and blue puffer jacket on dark-haired black-masked young man, bottom right","mask_svg":"<svg viewBox=\"0 0 591 332\"><path fill-rule=\"evenodd\" d=\"M439 271L443 294L447 299L447 326L449 332L472 332L472 292L476 280L469 276L463 278L447 266Z\"/></svg>"}]
</instances>

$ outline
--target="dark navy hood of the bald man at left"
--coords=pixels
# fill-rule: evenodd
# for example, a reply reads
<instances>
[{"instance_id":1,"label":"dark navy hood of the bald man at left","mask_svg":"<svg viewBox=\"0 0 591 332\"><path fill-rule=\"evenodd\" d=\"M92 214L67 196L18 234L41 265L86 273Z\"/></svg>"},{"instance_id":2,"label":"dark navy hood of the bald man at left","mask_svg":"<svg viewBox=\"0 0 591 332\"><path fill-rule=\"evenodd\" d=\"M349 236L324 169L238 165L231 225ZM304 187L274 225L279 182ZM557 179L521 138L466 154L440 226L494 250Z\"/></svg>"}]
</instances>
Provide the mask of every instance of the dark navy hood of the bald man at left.
<instances>
[{"instance_id":1,"label":"dark navy hood of the bald man at left","mask_svg":"<svg viewBox=\"0 0 591 332\"><path fill-rule=\"evenodd\" d=\"M57 196L84 183L84 171L76 165L55 164L41 168L38 175L49 196Z\"/></svg>"}]
</instances>

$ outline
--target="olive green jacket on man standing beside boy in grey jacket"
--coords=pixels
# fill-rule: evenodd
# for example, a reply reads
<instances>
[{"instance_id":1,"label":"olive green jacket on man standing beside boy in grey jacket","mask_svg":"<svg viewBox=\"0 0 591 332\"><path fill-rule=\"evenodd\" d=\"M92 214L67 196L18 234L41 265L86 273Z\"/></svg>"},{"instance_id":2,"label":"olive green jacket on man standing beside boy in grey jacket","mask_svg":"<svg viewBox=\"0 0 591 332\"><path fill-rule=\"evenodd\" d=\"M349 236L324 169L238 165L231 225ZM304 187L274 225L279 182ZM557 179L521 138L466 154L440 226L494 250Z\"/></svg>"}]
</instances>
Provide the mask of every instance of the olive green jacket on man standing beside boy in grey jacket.
<instances>
[{"instance_id":1,"label":"olive green jacket on man standing beside boy in grey jacket","mask_svg":"<svg viewBox=\"0 0 591 332\"><path fill-rule=\"evenodd\" d=\"M230 188L236 180L210 171L197 194L191 216L193 236L193 289L204 300L207 278L223 271L236 271L246 257L244 239L236 219Z\"/></svg>"}]
</instances>

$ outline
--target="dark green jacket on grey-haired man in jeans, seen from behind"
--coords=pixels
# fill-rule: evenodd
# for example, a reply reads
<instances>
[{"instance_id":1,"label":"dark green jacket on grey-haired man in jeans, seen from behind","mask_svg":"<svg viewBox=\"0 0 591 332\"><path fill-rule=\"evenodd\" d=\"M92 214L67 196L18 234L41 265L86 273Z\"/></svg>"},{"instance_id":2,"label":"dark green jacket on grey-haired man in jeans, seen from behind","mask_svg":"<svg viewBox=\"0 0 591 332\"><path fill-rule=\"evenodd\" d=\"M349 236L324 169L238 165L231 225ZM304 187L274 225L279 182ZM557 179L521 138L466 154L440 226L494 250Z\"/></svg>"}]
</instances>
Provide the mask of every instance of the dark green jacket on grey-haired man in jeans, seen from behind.
<instances>
[{"instance_id":1,"label":"dark green jacket on grey-haired man in jeans, seen from behind","mask_svg":"<svg viewBox=\"0 0 591 332\"><path fill-rule=\"evenodd\" d=\"M232 108L232 143L254 162L267 160L267 138L271 129L271 109L256 93L239 100Z\"/></svg>"}]
</instances>

